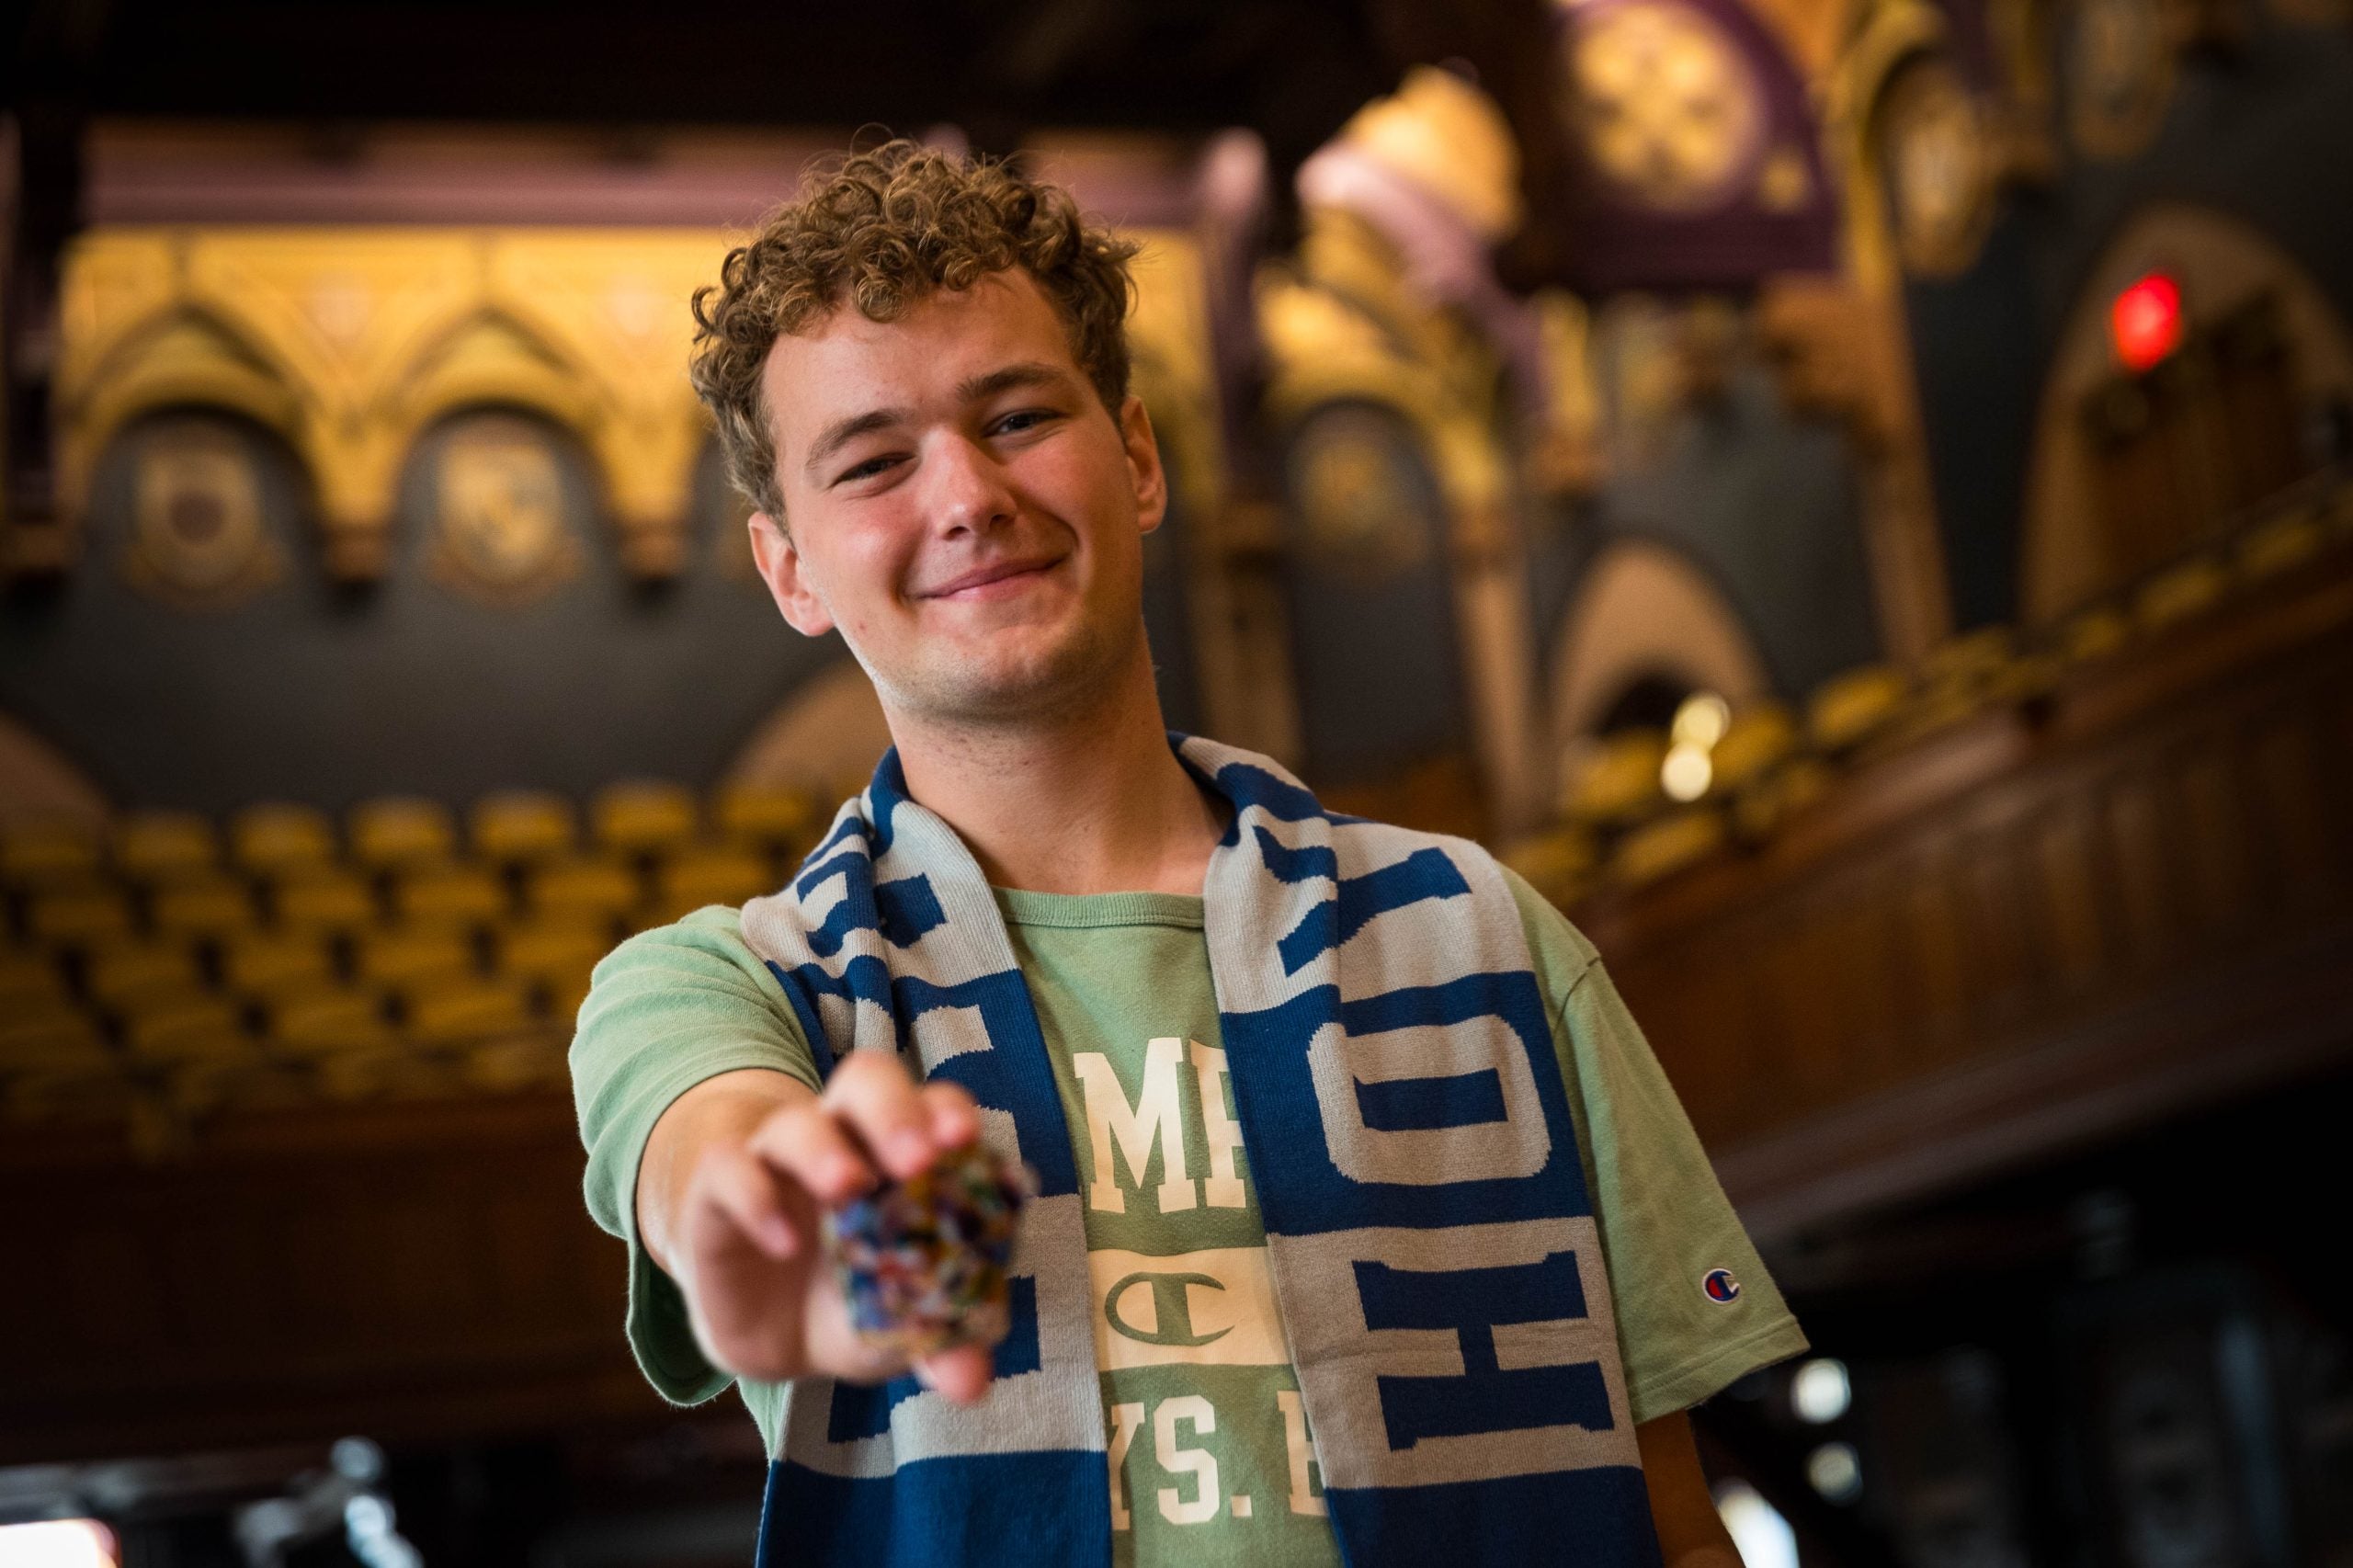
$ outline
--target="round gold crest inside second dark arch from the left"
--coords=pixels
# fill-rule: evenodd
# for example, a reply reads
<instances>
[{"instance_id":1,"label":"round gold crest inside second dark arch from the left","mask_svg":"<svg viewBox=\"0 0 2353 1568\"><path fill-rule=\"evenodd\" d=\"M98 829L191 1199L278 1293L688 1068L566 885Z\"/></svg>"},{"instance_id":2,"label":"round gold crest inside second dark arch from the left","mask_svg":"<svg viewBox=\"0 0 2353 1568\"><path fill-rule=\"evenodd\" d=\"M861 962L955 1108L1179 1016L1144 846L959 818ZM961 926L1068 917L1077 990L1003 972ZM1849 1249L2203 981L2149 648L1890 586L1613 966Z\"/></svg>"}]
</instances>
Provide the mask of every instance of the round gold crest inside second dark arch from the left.
<instances>
[{"instance_id":1,"label":"round gold crest inside second dark arch from the left","mask_svg":"<svg viewBox=\"0 0 2353 1568\"><path fill-rule=\"evenodd\" d=\"M598 516L595 469L569 428L527 405L461 405L409 447L398 551L449 593L515 610L588 570Z\"/></svg>"}]
</instances>

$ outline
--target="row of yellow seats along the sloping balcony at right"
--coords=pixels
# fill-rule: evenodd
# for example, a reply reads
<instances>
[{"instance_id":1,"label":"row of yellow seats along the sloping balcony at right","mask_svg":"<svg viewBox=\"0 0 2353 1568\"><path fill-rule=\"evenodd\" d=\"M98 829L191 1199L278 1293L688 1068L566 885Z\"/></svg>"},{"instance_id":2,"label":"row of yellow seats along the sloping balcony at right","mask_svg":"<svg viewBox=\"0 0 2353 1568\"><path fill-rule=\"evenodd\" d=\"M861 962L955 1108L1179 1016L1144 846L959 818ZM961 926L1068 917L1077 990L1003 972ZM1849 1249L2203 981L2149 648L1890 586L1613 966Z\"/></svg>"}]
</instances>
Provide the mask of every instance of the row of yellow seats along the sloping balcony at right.
<instances>
[{"instance_id":1,"label":"row of yellow seats along the sloping balcony at right","mask_svg":"<svg viewBox=\"0 0 2353 1568\"><path fill-rule=\"evenodd\" d=\"M1685 735L1678 716L1671 730L1581 739L1562 758L1553 824L1513 845L1506 859L1562 904L1600 885L1654 881L1767 833L1854 763L1988 706L2045 695L2075 669L2151 647L2235 593L2346 546L2353 546L2353 485L2299 492L2031 636L1984 626L1951 638L1911 671L1854 669L1817 687L1802 711L1779 702L1718 706L1699 737Z\"/></svg>"}]
</instances>

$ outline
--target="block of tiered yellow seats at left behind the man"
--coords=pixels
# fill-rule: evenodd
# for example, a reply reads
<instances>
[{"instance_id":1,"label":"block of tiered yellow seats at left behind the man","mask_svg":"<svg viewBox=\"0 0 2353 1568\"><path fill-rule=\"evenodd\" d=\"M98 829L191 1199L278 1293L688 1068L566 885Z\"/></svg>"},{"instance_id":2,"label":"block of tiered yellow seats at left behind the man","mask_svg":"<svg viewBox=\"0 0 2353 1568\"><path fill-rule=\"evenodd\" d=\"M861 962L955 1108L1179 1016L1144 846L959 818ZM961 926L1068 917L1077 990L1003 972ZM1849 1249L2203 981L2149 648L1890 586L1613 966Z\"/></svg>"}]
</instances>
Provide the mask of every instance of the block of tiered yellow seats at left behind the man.
<instances>
[{"instance_id":1,"label":"block of tiered yellow seats at left behind the man","mask_svg":"<svg viewBox=\"0 0 2353 1568\"><path fill-rule=\"evenodd\" d=\"M821 826L793 791L624 784L129 812L0 831L0 1111L181 1111L560 1074L624 935L772 892Z\"/></svg>"}]
</instances>

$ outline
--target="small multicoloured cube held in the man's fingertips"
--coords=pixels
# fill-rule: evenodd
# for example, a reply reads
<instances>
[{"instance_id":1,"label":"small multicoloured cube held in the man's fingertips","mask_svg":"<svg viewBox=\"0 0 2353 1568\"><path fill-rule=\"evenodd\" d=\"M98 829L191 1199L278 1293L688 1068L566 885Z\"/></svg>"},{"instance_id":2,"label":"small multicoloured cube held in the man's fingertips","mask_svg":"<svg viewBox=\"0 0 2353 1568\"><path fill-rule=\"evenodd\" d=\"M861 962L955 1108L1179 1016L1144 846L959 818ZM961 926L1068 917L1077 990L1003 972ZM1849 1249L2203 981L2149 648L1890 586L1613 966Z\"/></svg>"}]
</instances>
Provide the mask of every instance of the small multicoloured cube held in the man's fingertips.
<instances>
[{"instance_id":1,"label":"small multicoloured cube held in the man's fingertips","mask_svg":"<svg viewBox=\"0 0 2353 1568\"><path fill-rule=\"evenodd\" d=\"M849 1323L908 1356L1002 1335L1005 1269L1035 1191L1021 1161L972 1144L826 1215Z\"/></svg>"}]
</instances>

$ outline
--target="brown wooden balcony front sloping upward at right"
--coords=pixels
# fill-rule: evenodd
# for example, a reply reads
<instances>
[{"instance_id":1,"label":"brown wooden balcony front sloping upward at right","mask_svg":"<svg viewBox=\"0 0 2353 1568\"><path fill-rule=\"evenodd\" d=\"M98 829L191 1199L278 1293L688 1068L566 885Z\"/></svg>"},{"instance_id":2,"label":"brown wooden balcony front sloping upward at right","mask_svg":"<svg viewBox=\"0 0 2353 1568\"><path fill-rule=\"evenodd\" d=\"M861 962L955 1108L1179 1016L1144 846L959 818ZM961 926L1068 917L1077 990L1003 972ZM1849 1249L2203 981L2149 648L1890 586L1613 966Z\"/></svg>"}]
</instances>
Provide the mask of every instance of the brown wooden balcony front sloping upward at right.
<instances>
[{"instance_id":1,"label":"brown wooden balcony front sloping upward at right","mask_svg":"<svg viewBox=\"0 0 2353 1568\"><path fill-rule=\"evenodd\" d=\"M1765 1241L2353 1059L2353 549L1574 913Z\"/></svg>"}]
</instances>

